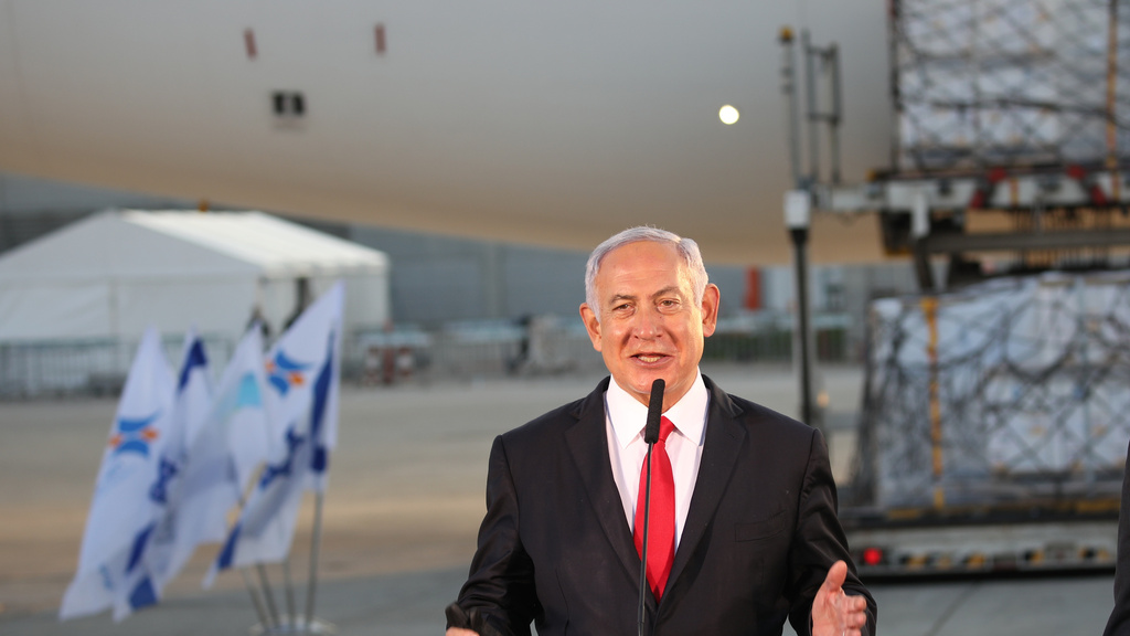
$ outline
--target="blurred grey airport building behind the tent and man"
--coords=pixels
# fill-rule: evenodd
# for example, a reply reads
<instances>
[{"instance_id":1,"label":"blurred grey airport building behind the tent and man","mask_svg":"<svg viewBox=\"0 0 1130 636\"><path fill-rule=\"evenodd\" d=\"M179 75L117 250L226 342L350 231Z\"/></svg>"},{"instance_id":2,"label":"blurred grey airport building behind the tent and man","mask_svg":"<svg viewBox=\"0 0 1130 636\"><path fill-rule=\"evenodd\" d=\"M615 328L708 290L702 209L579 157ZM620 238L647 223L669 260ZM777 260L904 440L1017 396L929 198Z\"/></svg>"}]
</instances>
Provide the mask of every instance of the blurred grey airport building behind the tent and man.
<instances>
[{"instance_id":1,"label":"blurred grey airport building behind the tent and man","mask_svg":"<svg viewBox=\"0 0 1130 636\"><path fill-rule=\"evenodd\" d=\"M0 258L16 246L106 209L199 207L231 209L218 203L202 205L0 174ZM347 351L346 372L362 381L368 378L383 383L390 373L398 376L398 356L392 352L403 360L403 350L410 350L414 356L405 368L443 368L461 375L515 372L519 367L547 372L599 364L577 319L588 252L276 216L388 257L388 320L356 329L351 334L354 346ZM792 267L719 265L710 263L709 253L705 256L711 281L722 290L723 299L719 328L722 337L707 341L714 347L707 354L736 361L789 362L794 307ZM863 318L871 299L909 293L915 285L912 268L903 263L818 266L812 268L811 277L816 352L829 361L860 359ZM269 327L277 334L281 325ZM166 337L172 342L179 334ZM9 371L26 375L20 364L12 362L15 344L20 343L0 342L0 349L7 345ZM27 343L20 346L26 349ZM172 344L169 347L175 351ZM218 347L225 351L228 345L220 343ZM471 349L473 353L468 353Z\"/></svg>"}]
</instances>

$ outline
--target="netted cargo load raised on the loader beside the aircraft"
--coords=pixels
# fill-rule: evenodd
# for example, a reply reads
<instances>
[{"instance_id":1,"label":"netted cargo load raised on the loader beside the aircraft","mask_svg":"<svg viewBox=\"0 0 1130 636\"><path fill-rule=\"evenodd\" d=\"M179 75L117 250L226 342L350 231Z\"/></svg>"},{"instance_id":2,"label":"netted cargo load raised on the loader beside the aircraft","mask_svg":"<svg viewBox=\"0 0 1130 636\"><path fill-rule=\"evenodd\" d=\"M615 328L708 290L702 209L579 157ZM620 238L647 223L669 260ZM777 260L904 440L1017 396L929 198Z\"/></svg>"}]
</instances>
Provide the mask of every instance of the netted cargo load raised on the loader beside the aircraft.
<instances>
[{"instance_id":1,"label":"netted cargo load raised on the loader beside the aircraft","mask_svg":"<svg viewBox=\"0 0 1130 636\"><path fill-rule=\"evenodd\" d=\"M898 170L1130 157L1125 0L894 0L890 19Z\"/></svg>"}]
</instances>

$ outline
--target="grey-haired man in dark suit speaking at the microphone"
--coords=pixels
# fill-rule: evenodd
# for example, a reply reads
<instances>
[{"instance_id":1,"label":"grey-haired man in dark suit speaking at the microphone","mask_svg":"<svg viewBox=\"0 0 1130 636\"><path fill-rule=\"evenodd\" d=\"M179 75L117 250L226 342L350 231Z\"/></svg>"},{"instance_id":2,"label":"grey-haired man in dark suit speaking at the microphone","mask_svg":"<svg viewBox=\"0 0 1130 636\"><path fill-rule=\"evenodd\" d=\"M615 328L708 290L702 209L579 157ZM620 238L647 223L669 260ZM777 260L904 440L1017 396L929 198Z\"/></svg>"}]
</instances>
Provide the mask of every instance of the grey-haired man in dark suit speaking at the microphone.
<instances>
[{"instance_id":1,"label":"grey-haired man in dark suit speaking at the microphone","mask_svg":"<svg viewBox=\"0 0 1130 636\"><path fill-rule=\"evenodd\" d=\"M495 439L458 600L472 627L636 633L642 429L662 378L653 462L670 485L652 491L646 633L776 635L788 618L801 636L875 634L819 432L698 372L719 302L694 241L634 227L593 251L581 318L611 378ZM462 627L447 635L475 634Z\"/></svg>"}]
</instances>

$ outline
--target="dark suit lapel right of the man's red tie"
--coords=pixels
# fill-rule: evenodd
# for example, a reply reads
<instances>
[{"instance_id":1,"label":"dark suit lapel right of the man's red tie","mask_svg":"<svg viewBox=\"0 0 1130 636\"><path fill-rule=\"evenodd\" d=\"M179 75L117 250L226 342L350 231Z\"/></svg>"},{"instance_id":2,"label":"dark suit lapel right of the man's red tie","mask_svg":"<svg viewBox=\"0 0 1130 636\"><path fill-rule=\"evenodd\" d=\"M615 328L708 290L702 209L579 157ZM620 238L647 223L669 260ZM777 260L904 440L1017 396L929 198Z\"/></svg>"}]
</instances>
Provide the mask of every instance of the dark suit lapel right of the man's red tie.
<instances>
[{"instance_id":1,"label":"dark suit lapel right of the man's red tie","mask_svg":"<svg viewBox=\"0 0 1130 636\"><path fill-rule=\"evenodd\" d=\"M687 519L683 525L679 549L675 553L675 562L671 564L671 577L667 583L669 591L675 586L673 584L690 560L690 555L695 552L695 548L710 526L746 440L746 430L737 422L739 413L736 412L737 407L733 402L709 378L704 377L703 380L711 393L710 411L706 418L706 439L703 441L698 478L695 480L690 508L687 510Z\"/></svg>"}]
</instances>

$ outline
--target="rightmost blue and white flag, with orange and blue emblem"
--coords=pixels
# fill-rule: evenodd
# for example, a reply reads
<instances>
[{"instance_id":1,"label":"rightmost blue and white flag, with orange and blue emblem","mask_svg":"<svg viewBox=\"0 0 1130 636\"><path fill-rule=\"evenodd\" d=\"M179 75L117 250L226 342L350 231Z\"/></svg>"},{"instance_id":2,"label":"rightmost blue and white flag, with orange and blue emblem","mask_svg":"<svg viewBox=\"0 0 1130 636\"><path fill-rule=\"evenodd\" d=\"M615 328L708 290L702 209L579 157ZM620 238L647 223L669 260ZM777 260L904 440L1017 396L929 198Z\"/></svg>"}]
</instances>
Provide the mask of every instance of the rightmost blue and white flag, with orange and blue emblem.
<instances>
[{"instance_id":1,"label":"rightmost blue and white flag, with orange and blue emblem","mask_svg":"<svg viewBox=\"0 0 1130 636\"><path fill-rule=\"evenodd\" d=\"M286 559L302 495L325 488L337 441L344 289L338 283L275 343L267 402L281 422L271 459L205 578L219 570Z\"/></svg>"}]
</instances>

